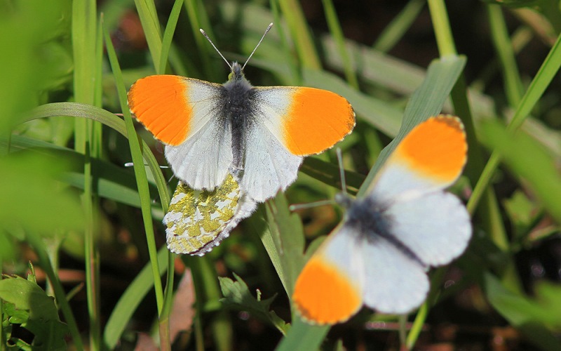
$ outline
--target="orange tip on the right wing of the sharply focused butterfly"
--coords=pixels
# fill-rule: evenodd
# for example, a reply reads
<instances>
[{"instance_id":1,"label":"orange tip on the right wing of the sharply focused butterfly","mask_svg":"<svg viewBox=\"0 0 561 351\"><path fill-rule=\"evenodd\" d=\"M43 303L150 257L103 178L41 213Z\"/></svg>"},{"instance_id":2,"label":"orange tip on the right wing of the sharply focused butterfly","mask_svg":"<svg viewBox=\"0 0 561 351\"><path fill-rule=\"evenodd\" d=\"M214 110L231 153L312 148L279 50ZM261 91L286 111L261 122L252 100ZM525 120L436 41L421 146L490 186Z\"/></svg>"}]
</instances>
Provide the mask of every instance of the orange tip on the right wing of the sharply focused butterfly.
<instances>
[{"instance_id":1,"label":"orange tip on the right wing of the sharply focused butterfly","mask_svg":"<svg viewBox=\"0 0 561 351\"><path fill-rule=\"evenodd\" d=\"M351 133L353 107L336 93L316 88L295 88L284 120L285 146L292 154L318 154Z\"/></svg>"}]
</instances>

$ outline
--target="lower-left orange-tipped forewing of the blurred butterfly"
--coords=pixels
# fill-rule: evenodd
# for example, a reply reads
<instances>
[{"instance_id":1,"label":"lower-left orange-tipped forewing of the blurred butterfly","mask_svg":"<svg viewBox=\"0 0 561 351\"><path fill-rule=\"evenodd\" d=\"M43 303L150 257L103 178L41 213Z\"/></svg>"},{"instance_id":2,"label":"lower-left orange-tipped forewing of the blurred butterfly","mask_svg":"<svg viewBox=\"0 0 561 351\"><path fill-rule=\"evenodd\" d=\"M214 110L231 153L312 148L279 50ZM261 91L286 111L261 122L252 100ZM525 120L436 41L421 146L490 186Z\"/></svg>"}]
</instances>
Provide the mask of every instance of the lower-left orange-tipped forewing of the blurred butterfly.
<instances>
[{"instance_id":1,"label":"lower-left orange-tipped forewing of the blurred butterfly","mask_svg":"<svg viewBox=\"0 0 561 351\"><path fill-rule=\"evenodd\" d=\"M357 233L342 225L321 244L300 272L292 302L315 324L344 322L363 304L364 269Z\"/></svg>"}]
</instances>

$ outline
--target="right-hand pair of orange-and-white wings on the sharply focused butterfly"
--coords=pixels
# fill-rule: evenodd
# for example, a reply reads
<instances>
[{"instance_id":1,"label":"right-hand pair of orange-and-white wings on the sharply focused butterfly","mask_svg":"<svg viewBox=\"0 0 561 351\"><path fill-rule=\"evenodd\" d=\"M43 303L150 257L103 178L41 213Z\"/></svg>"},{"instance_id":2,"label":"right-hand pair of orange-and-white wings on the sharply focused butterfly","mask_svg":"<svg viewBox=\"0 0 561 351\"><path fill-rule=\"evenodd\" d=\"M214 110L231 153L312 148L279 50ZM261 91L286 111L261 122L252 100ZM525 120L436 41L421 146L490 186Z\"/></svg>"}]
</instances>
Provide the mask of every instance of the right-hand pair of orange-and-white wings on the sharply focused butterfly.
<instances>
[{"instance_id":1,"label":"right-hand pair of orange-and-white wings on the sharply focused butterfly","mask_svg":"<svg viewBox=\"0 0 561 351\"><path fill-rule=\"evenodd\" d=\"M302 157L332 147L351 133L349 102L316 88L253 88L241 187L264 201L295 181Z\"/></svg>"}]
</instances>

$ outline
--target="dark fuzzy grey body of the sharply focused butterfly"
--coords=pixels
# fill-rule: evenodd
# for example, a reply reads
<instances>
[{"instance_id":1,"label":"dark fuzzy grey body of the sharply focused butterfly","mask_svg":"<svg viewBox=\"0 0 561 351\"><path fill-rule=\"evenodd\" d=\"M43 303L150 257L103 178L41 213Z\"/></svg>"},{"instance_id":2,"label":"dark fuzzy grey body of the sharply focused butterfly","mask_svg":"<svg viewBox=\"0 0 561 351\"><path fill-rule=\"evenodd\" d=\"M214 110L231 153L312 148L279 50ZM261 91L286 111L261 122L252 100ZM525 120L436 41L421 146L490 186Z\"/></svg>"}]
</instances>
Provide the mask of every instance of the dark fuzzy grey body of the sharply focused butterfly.
<instances>
[{"instance_id":1,"label":"dark fuzzy grey body of the sharply focused butterfly","mask_svg":"<svg viewBox=\"0 0 561 351\"><path fill-rule=\"evenodd\" d=\"M238 62L232 65L232 72L224 84L224 114L225 123L231 124L232 153L234 167L243 168L243 150L245 150L245 135L251 128L250 117L253 115L252 96L255 94L250 82L245 79Z\"/></svg>"}]
</instances>

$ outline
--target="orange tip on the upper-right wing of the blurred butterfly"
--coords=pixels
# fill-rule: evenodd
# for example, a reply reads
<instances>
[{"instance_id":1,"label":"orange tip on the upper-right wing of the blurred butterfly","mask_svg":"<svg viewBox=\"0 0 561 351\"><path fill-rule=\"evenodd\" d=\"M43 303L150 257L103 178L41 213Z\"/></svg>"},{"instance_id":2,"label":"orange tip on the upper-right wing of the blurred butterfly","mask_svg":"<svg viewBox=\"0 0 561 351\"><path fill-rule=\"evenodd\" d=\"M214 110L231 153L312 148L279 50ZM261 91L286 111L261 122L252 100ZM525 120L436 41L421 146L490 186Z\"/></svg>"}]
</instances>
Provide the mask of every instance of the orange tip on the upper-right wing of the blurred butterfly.
<instances>
[{"instance_id":1,"label":"orange tip on the upper-right wing of the blurred butterfly","mask_svg":"<svg viewBox=\"0 0 561 351\"><path fill-rule=\"evenodd\" d=\"M401 141L396 158L415 170L443 181L459 177L467 159L464 125L457 117L440 115L419 124Z\"/></svg>"}]
</instances>

